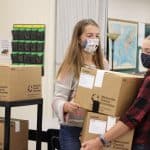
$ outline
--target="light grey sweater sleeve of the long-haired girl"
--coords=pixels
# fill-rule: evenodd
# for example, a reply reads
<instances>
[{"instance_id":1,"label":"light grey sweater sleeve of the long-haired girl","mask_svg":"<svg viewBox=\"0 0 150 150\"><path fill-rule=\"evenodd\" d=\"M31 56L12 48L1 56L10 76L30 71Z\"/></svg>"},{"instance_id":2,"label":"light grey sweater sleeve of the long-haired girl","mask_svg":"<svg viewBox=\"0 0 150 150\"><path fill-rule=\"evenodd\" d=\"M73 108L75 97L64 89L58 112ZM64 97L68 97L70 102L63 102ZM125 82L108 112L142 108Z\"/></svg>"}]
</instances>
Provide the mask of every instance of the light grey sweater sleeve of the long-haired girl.
<instances>
[{"instance_id":1,"label":"light grey sweater sleeve of the long-haired girl","mask_svg":"<svg viewBox=\"0 0 150 150\"><path fill-rule=\"evenodd\" d=\"M63 79L56 80L52 109L60 122L64 122L63 106L69 100L72 91L73 75L69 74Z\"/></svg>"}]
</instances>

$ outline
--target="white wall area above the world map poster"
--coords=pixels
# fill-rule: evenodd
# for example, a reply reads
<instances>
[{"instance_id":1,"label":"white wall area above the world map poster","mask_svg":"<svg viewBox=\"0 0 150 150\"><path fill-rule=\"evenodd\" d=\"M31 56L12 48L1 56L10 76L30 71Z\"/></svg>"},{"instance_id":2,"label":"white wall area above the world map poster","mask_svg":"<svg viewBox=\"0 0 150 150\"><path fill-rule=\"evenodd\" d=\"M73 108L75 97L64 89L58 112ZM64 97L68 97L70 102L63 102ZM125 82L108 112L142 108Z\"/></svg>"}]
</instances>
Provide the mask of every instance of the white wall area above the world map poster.
<instances>
[{"instance_id":1,"label":"white wall area above the world map poster","mask_svg":"<svg viewBox=\"0 0 150 150\"><path fill-rule=\"evenodd\" d=\"M108 17L150 23L150 0L108 0Z\"/></svg>"}]
</instances>

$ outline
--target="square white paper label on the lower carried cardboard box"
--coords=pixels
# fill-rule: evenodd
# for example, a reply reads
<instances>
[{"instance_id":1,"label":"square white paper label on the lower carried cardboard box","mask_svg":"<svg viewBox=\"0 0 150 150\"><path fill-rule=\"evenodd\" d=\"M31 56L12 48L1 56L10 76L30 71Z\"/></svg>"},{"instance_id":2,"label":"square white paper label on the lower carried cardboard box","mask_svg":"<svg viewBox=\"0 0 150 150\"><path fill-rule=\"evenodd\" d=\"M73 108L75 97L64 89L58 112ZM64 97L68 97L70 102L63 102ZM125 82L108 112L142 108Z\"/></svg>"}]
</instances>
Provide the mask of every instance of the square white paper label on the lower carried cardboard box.
<instances>
[{"instance_id":1,"label":"square white paper label on the lower carried cardboard box","mask_svg":"<svg viewBox=\"0 0 150 150\"><path fill-rule=\"evenodd\" d=\"M89 133L104 134L106 130L106 121L90 119Z\"/></svg>"}]
</instances>

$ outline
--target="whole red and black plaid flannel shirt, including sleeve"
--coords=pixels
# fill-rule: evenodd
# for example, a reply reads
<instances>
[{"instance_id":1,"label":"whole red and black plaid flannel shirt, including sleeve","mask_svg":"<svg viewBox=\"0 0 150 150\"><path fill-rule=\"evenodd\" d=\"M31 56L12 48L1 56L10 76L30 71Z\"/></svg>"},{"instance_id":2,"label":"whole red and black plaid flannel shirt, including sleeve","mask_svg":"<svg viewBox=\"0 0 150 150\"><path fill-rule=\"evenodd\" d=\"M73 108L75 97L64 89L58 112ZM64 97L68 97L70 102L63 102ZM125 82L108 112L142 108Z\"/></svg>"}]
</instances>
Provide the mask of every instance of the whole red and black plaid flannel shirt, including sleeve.
<instances>
[{"instance_id":1,"label":"whole red and black plaid flannel shirt, including sleeve","mask_svg":"<svg viewBox=\"0 0 150 150\"><path fill-rule=\"evenodd\" d=\"M137 98L120 120L135 128L134 144L144 144L150 149L150 75L145 76Z\"/></svg>"}]
</instances>

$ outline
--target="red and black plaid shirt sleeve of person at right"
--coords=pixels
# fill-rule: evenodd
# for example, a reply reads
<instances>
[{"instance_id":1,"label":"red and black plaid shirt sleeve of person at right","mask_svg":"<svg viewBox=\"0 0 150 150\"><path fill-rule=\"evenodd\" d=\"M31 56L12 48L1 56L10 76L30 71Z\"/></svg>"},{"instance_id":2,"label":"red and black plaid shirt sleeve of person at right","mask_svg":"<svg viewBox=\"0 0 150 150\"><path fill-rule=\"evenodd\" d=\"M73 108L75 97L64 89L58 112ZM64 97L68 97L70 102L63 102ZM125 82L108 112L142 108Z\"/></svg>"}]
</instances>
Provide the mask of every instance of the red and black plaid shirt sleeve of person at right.
<instances>
[{"instance_id":1,"label":"red and black plaid shirt sleeve of person at right","mask_svg":"<svg viewBox=\"0 0 150 150\"><path fill-rule=\"evenodd\" d=\"M135 128L150 110L150 76L146 77L140 90L124 116L120 118L129 128Z\"/></svg>"}]
</instances>

